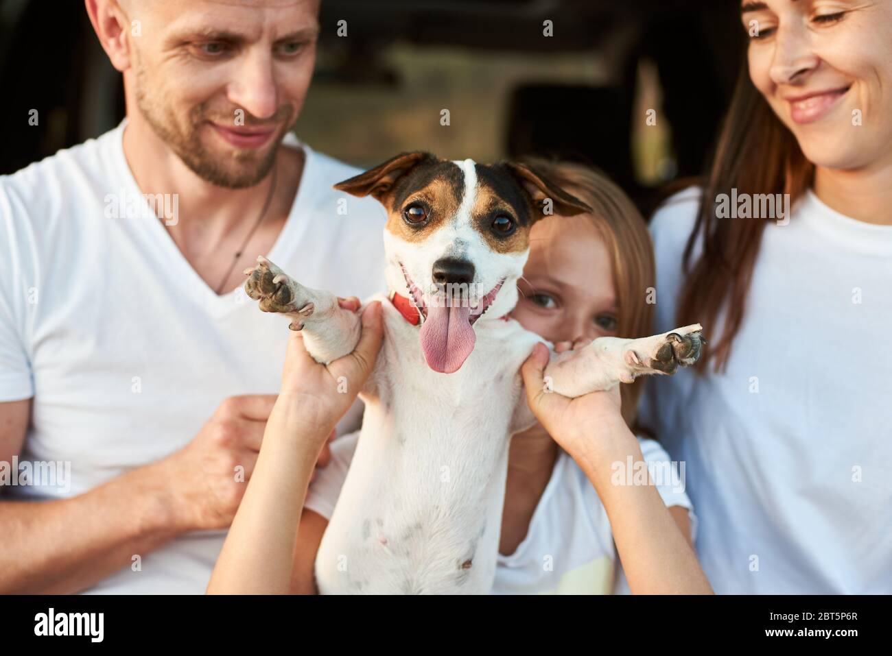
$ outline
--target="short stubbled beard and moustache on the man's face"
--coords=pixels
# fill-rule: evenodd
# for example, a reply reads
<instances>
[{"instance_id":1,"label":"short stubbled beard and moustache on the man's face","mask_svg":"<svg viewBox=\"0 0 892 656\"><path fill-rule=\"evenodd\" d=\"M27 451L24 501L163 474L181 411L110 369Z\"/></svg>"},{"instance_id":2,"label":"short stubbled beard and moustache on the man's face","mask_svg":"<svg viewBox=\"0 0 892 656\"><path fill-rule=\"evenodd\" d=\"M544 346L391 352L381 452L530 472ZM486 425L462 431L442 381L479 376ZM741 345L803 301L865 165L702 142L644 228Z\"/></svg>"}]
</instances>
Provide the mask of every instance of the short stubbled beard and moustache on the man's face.
<instances>
[{"instance_id":1,"label":"short stubbled beard and moustache on the man's face","mask_svg":"<svg viewBox=\"0 0 892 656\"><path fill-rule=\"evenodd\" d=\"M205 105L202 103L189 112L186 117L186 126L182 126L169 106L162 102L156 102L146 93L146 90L151 88L153 86L147 83L145 69L137 63L136 106L143 113L146 122L196 176L211 184L228 189L244 189L258 184L267 176L276 161L282 139L297 119L293 116L293 106L290 103L280 106L272 119L262 121L254 119L245 111L245 127L281 124L282 127L279 128L278 134L272 137L272 147L262 156L262 159L258 159L257 152L249 150L235 150L231 153L230 158L221 158L218 154L204 148L199 130L202 123L209 119L221 126L233 123L235 110L221 119L208 115Z\"/></svg>"}]
</instances>

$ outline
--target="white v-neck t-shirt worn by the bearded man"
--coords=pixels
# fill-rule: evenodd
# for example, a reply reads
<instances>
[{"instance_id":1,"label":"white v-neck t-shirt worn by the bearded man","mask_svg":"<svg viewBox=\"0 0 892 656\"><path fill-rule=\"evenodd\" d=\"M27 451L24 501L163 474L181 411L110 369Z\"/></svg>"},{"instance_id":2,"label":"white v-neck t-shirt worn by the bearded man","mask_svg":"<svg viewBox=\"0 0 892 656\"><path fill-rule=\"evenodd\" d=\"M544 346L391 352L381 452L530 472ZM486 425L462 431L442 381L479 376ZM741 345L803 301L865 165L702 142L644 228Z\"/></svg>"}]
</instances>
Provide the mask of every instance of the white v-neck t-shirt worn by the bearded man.
<instances>
[{"instance_id":1,"label":"white v-neck t-shirt worn by the bearded man","mask_svg":"<svg viewBox=\"0 0 892 656\"><path fill-rule=\"evenodd\" d=\"M68 485L5 498L86 492L184 447L224 398L279 388L285 319L241 288L217 296L148 212L108 217L121 194L145 206L125 126L0 177L0 401L34 397L20 461L70 462ZM332 189L359 171L285 143L306 164L266 255L313 288L383 291L384 209ZM223 537L180 537L91 592L202 593Z\"/></svg>"}]
</instances>

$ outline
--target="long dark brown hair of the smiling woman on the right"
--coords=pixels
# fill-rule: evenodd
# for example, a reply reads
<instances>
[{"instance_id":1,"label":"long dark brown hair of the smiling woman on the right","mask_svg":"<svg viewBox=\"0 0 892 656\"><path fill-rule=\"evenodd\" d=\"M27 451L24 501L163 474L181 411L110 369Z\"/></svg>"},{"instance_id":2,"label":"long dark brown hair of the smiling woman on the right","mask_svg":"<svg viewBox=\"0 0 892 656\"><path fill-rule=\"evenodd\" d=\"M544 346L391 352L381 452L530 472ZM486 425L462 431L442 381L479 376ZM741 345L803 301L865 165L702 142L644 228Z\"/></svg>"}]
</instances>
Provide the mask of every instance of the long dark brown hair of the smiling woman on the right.
<instances>
[{"instance_id":1,"label":"long dark brown hair of the smiling woman on the right","mask_svg":"<svg viewBox=\"0 0 892 656\"><path fill-rule=\"evenodd\" d=\"M678 325L703 324L710 346L697 363L712 362L723 371L731 342L743 323L747 293L756 266L765 225L773 218L719 218L719 194L789 193L789 207L812 184L814 166L805 159L796 138L749 79L747 65L738 79L725 116L712 162L702 183L697 223L684 250L685 282L681 289ZM703 250L691 264L697 242ZM717 324L725 310L723 323ZM721 333L716 335L716 330ZM714 339L717 338L717 339Z\"/></svg>"}]
</instances>

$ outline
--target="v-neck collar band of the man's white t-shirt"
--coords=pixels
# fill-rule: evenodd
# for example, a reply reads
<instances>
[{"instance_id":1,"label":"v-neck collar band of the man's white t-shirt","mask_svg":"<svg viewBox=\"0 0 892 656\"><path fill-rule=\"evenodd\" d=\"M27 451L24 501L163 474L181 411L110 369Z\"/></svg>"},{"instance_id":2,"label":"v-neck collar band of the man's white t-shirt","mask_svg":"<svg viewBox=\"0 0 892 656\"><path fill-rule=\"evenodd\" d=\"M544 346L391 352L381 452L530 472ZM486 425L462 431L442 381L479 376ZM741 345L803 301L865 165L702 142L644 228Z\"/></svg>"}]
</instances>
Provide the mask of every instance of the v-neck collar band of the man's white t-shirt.
<instances>
[{"instance_id":1,"label":"v-neck collar band of the man's white t-shirt","mask_svg":"<svg viewBox=\"0 0 892 656\"><path fill-rule=\"evenodd\" d=\"M218 295L217 292L211 289L211 286L204 281L202 276L198 275L198 272L195 271L192 265L189 264L189 260L187 260L186 256L183 255L183 252L179 250L176 242L173 241L169 232L165 230L164 225L161 225L161 219L156 217L155 220L152 220L151 217L154 216L153 209L145 200L145 193L139 188L139 184L136 183L136 177L134 177L133 171L127 161L127 156L124 153L124 130L126 128L127 119L125 118L121 121L120 126L118 127L120 132L115 137L115 153L119 159L120 174L123 176L124 184L127 184L130 187L130 193L136 193L140 198L142 205L141 209L143 211L141 211L138 216L150 217L145 220L145 230L152 234L153 240L158 242L161 248L167 250L168 257L166 259L169 263L169 267L175 270L174 275L180 278L182 286L186 288L194 301L202 305L202 307L205 307L207 311L217 319L221 319L231 312L234 312L239 307L243 307L247 297L244 294L242 285L238 285L235 289ZM288 212L288 217L285 218L285 225L282 226L282 230L279 231L276 242L273 243L268 253L263 254L265 257L273 261L283 261L285 259L285 257L283 257L287 255L285 250L288 248L289 244L294 243L292 234L297 230L297 224L300 223L300 217L297 215L300 213L301 208L307 206L308 197L318 186L315 184L308 184L309 179L307 175L308 171L313 171L316 168L316 153L313 152L307 144L302 143L297 136L291 132L285 135L282 145L300 150L303 152L304 157L303 166L301 167L301 179L298 183L297 193L294 196L291 209Z\"/></svg>"}]
</instances>

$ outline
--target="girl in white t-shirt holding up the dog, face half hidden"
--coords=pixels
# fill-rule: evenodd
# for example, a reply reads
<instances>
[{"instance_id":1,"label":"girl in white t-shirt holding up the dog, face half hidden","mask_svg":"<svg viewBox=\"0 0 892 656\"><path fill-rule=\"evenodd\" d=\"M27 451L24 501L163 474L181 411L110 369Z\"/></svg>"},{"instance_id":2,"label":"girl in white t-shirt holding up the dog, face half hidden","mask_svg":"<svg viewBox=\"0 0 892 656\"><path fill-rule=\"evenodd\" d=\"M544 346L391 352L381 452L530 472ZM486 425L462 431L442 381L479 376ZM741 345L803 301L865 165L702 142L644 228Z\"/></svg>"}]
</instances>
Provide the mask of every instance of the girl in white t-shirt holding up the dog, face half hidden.
<instances>
[{"instance_id":1,"label":"girl in white t-shirt holding up the dog, face half hidden","mask_svg":"<svg viewBox=\"0 0 892 656\"><path fill-rule=\"evenodd\" d=\"M554 342L650 334L651 307L644 291L653 285L653 256L647 229L632 203L587 168L542 161L534 166L595 211L546 217L533 226L520 284L524 298L513 316ZM297 355L293 351L292 357ZM675 476L657 480L662 482L657 487L648 480L636 485L615 478L617 470L625 473L632 463L667 460L656 442L639 441L629 429L640 386L623 386L622 407L619 388L570 401L542 391L546 359L541 347L523 369L530 406L545 429L539 426L512 439L493 592L607 592L617 551L632 592L710 592L690 548L690 501L677 472L669 463L658 467L655 474ZM581 425L595 428L583 433ZM289 430L271 423L263 448L282 443L282 431ZM287 448L270 447L278 454L276 468L270 459L258 462L210 591L285 592L290 575L292 591L315 592L316 551L356 439L354 434L333 443L332 461L310 488L296 539L290 531L295 509L303 502L305 478L277 483L293 465L286 459ZM300 471L306 473L306 467ZM257 487L267 492L257 492ZM287 521L265 529L265 522L272 527L280 513ZM254 518L244 519L249 514ZM252 532L246 528L249 521ZM258 540L259 535L264 538ZM282 546L270 545L274 539ZM292 552L293 570L290 560L282 560Z\"/></svg>"}]
</instances>

